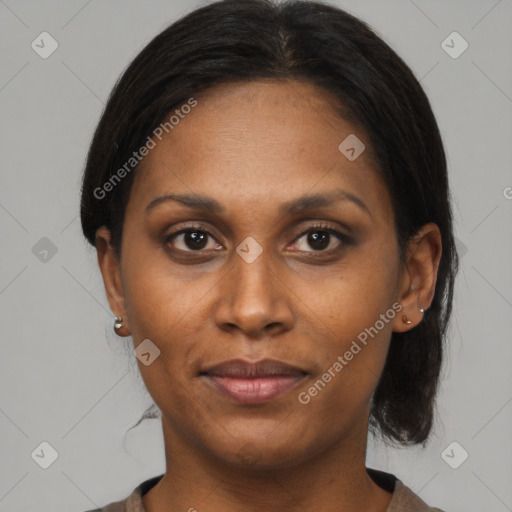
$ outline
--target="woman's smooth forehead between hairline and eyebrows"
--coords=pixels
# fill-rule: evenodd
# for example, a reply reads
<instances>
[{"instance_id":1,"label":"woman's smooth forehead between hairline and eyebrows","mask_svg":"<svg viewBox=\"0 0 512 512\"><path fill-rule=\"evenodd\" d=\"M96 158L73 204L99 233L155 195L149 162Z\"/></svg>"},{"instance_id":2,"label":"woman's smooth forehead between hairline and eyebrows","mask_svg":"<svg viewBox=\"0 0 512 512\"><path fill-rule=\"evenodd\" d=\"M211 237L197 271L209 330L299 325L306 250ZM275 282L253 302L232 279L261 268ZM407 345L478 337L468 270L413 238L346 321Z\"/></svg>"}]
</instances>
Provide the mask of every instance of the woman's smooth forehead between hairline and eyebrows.
<instances>
[{"instance_id":1,"label":"woman's smooth forehead between hairline and eyebrows","mask_svg":"<svg viewBox=\"0 0 512 512\"><path fill-rule=\"evenodd\" d=\"M333 187L389 207L366 133L323 90L258 81L223 84L195 99L137 170L132 195L141 207L176 191L263 204ZM364 151L351 161L339 146L354 136L348 140L360 140Z\"/></svg>"}]
</instances>

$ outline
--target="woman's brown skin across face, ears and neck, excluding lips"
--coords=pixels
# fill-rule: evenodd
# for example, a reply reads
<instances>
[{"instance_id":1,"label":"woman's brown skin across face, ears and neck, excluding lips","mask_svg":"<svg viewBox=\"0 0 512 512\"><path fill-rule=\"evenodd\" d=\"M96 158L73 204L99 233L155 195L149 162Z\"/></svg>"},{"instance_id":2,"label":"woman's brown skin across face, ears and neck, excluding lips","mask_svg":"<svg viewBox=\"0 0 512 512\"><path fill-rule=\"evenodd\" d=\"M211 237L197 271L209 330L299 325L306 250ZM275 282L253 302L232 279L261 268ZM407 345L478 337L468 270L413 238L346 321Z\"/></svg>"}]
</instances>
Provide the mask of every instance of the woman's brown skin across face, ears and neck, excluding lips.
<instances>
[{"instance_id":1,"label":"woman's brown skin across face, ears and neck, excluding lips","mask_svg":"<svg viewBox=\"0 0 512 512\"><path fill-rule=\"evenodd\" d=\"M144 507L385 511L392 495L365 468L370 400L391 333L413 329L422 320L419 308L432 301L439 229L423 226L409 244L407 265L400 263L391 199L368 137L336 115L334 100L315 86L229 84L197 100L137 171L120 260L106 227L96 238L122 334L133 337L134 347L150 339L161 351L149 366L138 361L162 411L166 453L166 473L143 497ZM338 149L351 133L366 144L354 161ZM349 200L279 211L304 194L334 189L357 196L370 213ZM145 212L169 193L206 195L224 211L169 200ZM201 254L186 234L168 238L197 222L211 236ZM307 236L318 233L318 222L352 242L331 235L319 250ZM252 263L236 252L249 236L262 248ZM322 253L336 247L341 251ZM300 403L298 394L395 302L400 313L308 404ZM205 366L233 358L278 359L309 375L269 402L241 405L198 377Z\"/></svg>"}]
</instances>

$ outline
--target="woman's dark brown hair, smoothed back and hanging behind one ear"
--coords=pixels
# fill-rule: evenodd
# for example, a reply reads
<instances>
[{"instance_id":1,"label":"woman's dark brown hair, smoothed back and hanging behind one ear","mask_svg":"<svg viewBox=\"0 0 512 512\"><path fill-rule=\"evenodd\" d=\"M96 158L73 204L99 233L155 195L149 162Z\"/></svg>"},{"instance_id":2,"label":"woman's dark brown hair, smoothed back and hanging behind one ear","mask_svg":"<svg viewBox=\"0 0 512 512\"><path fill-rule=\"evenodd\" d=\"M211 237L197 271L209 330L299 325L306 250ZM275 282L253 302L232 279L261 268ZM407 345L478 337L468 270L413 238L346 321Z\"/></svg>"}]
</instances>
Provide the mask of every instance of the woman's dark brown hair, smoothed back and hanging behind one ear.
<instances>
[{"instance_id":1,"label":"woman's dark brown hair, smoothed back and hanging behind one ear","mask_svg":"<svg viewBox=\"0 0 512 512\"><path fill-rule=\"evenodd\" d=\"M439 226L433 302L414 329L392 334L369 424L384 440L425 444L458 267L446 157L420 83L363 21L320 2L224 0L170 25L125 70L94 133L82 186L84 235L94 244L96 230L107 226L120 256L136 168L105 197L95 190L190 97L220 83L260 79L314 84L339 100L345 118L364 127L392 199L402 261L423 224Z\"/></svg>"}]
</instances>

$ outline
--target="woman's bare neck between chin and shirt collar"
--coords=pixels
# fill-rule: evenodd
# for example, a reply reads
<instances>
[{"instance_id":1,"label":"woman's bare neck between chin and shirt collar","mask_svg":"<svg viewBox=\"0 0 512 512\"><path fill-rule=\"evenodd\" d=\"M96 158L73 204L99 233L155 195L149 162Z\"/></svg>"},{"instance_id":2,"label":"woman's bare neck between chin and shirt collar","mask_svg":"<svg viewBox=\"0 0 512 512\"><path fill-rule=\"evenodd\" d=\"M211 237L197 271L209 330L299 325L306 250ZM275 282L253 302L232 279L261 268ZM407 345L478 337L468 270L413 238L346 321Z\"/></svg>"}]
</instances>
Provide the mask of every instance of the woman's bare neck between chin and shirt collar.
<instances>
[{"instance_id":1,"label":"woman's bare neck between chin and shirt collar","mask_svg":"<svg viewBox=\"0 0 512 512\"><path fill-rule=\"evenodd\" d=\"M165 428L164 439L166 473L143 496L146 512L385 512L392 497L366 471L367 432L278 470L223 463Z\"/></svg>"}]
</instances>

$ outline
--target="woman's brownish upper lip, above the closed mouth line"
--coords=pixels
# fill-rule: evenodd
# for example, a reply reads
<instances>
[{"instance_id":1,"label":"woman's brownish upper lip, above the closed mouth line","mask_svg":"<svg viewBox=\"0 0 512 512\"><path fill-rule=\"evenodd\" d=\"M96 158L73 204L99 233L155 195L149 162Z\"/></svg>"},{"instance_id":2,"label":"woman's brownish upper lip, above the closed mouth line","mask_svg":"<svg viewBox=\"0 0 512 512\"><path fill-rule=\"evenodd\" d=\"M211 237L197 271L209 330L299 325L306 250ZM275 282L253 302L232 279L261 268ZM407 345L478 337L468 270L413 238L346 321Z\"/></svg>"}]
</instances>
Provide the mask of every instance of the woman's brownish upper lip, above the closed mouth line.
<instances>
[{"instance_id":1,"label":"woman's brownish upper lip, above the closed mouth line","mask_svg":"<svg viewBox=\"0 0 512 512\"><path fill-rule=\"evenodd\" d=\"M243 359L231 359L203 370L200 375L250 379L257 377L290 376L301 377L308 372L275 359L262 359L249 362Z\"/></svg>"}]
</instances>

